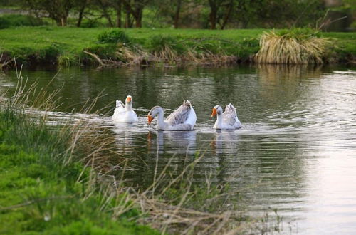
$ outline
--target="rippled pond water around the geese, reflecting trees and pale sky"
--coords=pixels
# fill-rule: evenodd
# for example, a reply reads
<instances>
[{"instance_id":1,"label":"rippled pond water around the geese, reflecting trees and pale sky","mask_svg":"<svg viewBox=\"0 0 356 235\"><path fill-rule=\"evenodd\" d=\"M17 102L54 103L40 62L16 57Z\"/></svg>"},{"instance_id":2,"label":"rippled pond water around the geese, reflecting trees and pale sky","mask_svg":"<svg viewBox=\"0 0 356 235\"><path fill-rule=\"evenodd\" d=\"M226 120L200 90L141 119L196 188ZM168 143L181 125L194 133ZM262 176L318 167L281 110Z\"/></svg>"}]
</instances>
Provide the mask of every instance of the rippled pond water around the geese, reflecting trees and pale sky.
<instances>
[{"instance_id":1,"label":"rippled pond water around the geese, reflecting trees and pale sky","mask_svg":"<svg viewBox=\"0 0 356 235\"><path fill-rule=\"evenodd\" d=\"M137 159L127 177L152 183L156 162L184 167L204 154L194 174L204 182L248 188L240 197L251 213L276 209L282 233L356 233L356 71L345 67L236 66L233 68L62 68L23 70L28 84L62 88L58 117L78 114L88 98L103 92L95 122L110 129L117 151ZM348 71L349 70L349 71ZM353 70L353 71L350 71ZM48 85L49 80L54 78ZM0 75L14 89L16 73ZM115 100L132 95L137 125L111 121ZM189 132L157 132L147 113L160 105L168 114L188 99L197 113ZM243 127L212 129L214 105L232 103ZM166 114L166 115L167 115ZM93 118L92 116L90 118ZM155 122L153 122L155 123Z\"/></svg>"}]
</instances>

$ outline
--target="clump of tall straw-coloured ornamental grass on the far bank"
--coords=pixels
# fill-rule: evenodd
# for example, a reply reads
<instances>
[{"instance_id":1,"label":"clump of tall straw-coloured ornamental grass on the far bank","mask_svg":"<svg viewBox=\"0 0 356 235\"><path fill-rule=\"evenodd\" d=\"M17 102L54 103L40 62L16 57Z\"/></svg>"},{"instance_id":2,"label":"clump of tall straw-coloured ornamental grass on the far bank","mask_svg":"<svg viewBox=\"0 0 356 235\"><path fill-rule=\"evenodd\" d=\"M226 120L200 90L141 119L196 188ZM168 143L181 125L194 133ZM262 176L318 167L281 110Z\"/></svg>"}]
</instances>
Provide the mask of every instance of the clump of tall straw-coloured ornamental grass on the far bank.
<instances>
[{"instance_id":1,"label":"clump of tall straw-coloured ornamental grass on the far bank","mask_svg":"<svg viewBox=\"0 0 356 235\"><path fill-rule=\"evenodd\" d=\"M320 64L328 59L331 43L308 28L263 33L256 63Z\"/></svg>"}]
</instances>

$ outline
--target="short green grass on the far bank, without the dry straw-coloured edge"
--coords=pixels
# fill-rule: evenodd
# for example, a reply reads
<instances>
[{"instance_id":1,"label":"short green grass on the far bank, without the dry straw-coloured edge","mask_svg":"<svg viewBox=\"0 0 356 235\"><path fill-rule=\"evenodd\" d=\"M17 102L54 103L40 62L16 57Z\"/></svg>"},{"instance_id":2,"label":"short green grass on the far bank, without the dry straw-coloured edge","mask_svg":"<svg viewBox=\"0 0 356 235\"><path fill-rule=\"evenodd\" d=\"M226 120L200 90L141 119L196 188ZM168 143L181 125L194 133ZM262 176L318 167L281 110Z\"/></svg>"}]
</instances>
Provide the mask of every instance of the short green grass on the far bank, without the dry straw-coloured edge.
<instances>
[{"instance_id":1,"label":"short green grass on the far bank, without the dry straw-coloured edge","mask_svg":"<svg viewBox=\"0 0 356 235\"><path fill-rule=\"evenodd\" d=\"M65 65L93 61L83 53L98 48L110 58L112 47L98 43L98 36L108 28L57 28L50 26L19 27L0 30L0 51L6 58L15 56L19 63L62 63ZM257 53L258 40L264 29L241 30L196 30L196 29L126 29L130 41L152 51L152 38L163 36L174 38L180 48L193 51L224 53L228 56L248 58ZM356 33L322 33L322 37L335 38L338 46L335 58L342 59L356 55ZM177 47L177 46L176 46ZM185 53L186 50L181 50ZM115 50L114 50L115 51Z\"/></svg>"}]
</instances>

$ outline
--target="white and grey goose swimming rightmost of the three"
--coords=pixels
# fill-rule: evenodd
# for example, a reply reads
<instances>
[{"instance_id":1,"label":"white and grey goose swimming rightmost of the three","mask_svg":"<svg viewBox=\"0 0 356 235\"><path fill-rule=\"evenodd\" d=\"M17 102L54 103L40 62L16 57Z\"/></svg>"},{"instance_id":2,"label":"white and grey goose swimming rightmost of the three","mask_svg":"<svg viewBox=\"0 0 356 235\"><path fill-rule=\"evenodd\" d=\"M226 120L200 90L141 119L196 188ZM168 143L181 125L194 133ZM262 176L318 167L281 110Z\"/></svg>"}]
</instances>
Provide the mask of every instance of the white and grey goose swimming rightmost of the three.
<instances>
[{"instance_id":1,"label":"white and grey goose swimming rightmost of the three","mask_svg":"<svg viewBox=\"0 0 356 235\"><path fill-rule=\"evenodd\" d=\"M241 122L236 115L236 108L234 105L226 105L225 112L220 105L216 105L213 108L213 113L211 113L211 117L216 115L216 122L213 128L215 129L236 129L241 128Z\"/></svg>"}]
</instances>

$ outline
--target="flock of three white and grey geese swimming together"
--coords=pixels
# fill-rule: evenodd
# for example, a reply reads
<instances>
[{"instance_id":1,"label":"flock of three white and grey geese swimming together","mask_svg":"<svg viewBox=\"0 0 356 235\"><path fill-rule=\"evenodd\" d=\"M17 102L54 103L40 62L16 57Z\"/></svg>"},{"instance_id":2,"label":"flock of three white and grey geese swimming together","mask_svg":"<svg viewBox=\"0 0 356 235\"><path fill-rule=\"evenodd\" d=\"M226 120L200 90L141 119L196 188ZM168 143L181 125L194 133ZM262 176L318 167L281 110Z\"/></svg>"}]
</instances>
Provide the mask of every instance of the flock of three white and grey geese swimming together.
<instances>
[{"instance_id":1,"label":"flock of three white and grey geese swimming together","mask_svg":"<svg viewBox=\"0 0 356 235\"><path fill-rule=\"evenodd\" d=\"M160 106L153 107L147 115L148 125L157 116L157 130L193 130L197 115L189 100L184 100L177 110L164 120L164 110ZM226 105L225 111L220 105L213 108L211 117L216 116L215 129L237 129L241 122L237 118L234 105ZM138 122L137 114L132 110L132 96L127 95L125 105L121 100L116 100L116 108L112 120L115 122Z\"/></svg>"}]
</instances>

